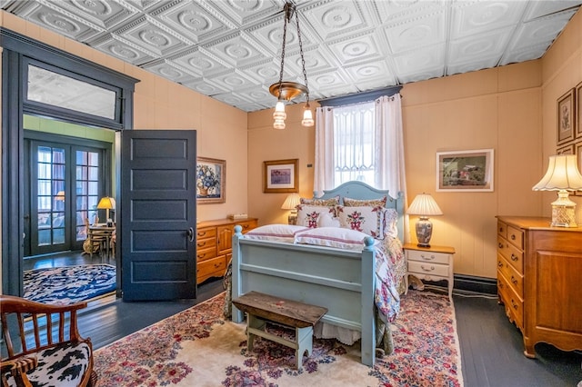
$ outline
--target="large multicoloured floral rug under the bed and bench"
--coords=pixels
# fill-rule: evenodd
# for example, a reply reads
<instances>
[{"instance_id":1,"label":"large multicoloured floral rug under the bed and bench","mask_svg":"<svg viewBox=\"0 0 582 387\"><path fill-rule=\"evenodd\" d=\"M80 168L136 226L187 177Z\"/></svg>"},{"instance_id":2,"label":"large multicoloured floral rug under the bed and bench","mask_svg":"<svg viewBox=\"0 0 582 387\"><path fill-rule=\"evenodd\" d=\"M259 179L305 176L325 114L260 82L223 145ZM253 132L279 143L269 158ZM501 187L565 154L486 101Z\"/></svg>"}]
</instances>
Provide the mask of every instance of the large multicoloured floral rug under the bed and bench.
<instances>
[{"instance_id":1,"label":"large multicoloured floral rug under the bed and bench","mask_svg":"<svg viewBox=\"0 0 582 387\"><path fill-rule=\"evenodd\" d=\"M396 351L359 362L357 343L314 339L295 369L295 351L256 338L223 318L224 293L95 352L98 386L462 386L457 323L447 296L410 291L393 324ZM281 328L274 328L281 330Z\"/></svg>"}]
</instances>

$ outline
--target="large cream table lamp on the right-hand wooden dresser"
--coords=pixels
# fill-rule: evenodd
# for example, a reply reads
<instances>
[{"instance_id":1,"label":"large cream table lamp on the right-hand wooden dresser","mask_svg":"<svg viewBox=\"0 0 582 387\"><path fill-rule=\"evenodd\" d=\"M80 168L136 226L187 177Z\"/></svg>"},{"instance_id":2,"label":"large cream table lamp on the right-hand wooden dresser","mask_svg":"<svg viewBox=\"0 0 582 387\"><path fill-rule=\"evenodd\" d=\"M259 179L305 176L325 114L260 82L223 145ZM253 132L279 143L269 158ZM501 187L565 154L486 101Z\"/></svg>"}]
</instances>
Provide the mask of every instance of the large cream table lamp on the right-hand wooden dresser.
<instances>
[{"instance_id":1,"label":"large cream table lamp on the right-hand wooden dresser","mask_svg":"<svg viewBox=\"0 0 582 387\"><path fill-rule=\"evenodd\" d=\"M552 203L552 226L577 227L576 203L568 198L568 191L582 190L582 174L578 171L575 154L549 156L547 172L534 191L557 191Z\"/></svg>"}]
</instances>

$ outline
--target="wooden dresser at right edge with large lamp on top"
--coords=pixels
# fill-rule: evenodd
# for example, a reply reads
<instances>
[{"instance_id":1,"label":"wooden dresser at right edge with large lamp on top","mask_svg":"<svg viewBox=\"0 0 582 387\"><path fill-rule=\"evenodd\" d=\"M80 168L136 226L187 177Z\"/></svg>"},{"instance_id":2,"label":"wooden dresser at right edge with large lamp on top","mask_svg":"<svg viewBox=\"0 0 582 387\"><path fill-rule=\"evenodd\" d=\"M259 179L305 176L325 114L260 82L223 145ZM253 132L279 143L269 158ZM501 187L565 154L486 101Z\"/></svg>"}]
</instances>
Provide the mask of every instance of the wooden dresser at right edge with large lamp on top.
<instances>
[{"instance_id":1,"label":"wooden dresser at right edge with large lamp on top","mask_svg":"<svg viewBox=\"0 0 582 387\"><path fill-rule=\"evenodd\" d=\"M549 218L497 216L497 293L509 321L537 342L582 350L582 227L550 227Z\"/></svg>"}]
</instances>

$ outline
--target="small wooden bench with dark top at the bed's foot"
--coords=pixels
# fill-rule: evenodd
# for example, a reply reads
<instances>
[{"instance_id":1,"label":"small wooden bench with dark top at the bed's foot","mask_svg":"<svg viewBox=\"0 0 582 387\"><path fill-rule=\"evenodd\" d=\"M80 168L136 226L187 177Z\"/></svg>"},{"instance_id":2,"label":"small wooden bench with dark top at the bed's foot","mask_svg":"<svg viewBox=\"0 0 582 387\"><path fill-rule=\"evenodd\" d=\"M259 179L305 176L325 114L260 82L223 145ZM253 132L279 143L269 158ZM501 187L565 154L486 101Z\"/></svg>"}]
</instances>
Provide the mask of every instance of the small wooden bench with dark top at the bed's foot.
<instances>
[{"instance_id":1,"label":"small wooden bench with dark top at the bed's foot","mask_svg":"<svg viewBox=\"0 0 582 387\"><path fill-rule=\"evenodd\" d=\"M236 308L246 312L246 337L248 350L253 351L255 336L278 342L295 349L297 370L303 364L303 354L313 351L313 327L327 313L326 308L297 303L272 295L249 292L233 300ZM266 332L266 321L295 328L295 342Z\"/></svg>"}]
</instances>

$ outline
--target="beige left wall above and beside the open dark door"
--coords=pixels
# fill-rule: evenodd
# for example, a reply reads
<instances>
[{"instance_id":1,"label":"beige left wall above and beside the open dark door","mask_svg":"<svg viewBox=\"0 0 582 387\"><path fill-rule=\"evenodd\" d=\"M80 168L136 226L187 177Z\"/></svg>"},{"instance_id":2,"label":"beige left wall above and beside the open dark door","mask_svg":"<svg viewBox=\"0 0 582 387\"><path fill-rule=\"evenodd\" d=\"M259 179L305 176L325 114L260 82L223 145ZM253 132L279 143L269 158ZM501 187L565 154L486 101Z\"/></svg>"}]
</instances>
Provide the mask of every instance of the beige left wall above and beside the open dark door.
<instances>
[{"instance_id":1,"label":"beige left wall above and beside the open dark door","mask_svg":"<svg viewBox=\"0 0 582 387\"><path fill-rule=\"evenodd\" d=\"M246 112L125 64L5 11L0 12L0 25L139 79L140 82L135 85L136 129L195 129L198 155L226 160L226 203L198 205L198 221L248 211Z\"/></svg>"}]
</instances>

